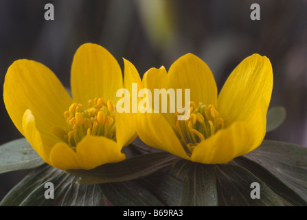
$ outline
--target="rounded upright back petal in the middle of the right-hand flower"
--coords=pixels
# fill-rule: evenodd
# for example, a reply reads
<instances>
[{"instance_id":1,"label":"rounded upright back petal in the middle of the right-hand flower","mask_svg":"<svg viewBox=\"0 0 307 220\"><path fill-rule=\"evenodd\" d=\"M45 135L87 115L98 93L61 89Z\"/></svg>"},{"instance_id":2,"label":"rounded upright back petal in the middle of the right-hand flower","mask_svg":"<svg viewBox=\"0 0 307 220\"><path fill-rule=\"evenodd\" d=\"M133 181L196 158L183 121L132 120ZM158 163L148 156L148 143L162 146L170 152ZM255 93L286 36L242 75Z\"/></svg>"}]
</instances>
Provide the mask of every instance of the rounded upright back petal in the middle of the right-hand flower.
<instances>
[{"instance_id":1,"label":"rounded upright back petal in the middle of the right-hand flower","mask_svg":"<svg viewBox=\"0 0 307 220\"><path fill-rule=\"evenodd\" d=\"M190 100L203 104L217 103L217 88L211 70L200 58L185 54L168 71L168 88L190 89Z\"/></svg>"}]
</instances>

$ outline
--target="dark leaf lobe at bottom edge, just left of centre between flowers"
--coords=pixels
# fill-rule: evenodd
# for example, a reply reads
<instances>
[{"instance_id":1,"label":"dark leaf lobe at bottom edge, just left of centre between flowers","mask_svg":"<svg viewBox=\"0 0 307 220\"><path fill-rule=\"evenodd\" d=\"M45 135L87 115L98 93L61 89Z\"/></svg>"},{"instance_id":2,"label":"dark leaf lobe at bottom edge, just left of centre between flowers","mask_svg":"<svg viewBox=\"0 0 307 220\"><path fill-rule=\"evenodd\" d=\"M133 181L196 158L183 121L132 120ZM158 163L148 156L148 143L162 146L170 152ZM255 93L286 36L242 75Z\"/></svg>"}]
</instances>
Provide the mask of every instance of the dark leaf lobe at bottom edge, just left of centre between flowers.
<instances>
[{"instance_id":1,"label":"dark leaf lobe at bottom edge, just left of centre between flowers","mask_svg":"<svg viewBox=\"0 0 307 220\"><path fill-rule=\"evenodd\" d=\"M135 181L99 184L113 206L164 206L152 193Z\"/></svg>"}]
</instances>

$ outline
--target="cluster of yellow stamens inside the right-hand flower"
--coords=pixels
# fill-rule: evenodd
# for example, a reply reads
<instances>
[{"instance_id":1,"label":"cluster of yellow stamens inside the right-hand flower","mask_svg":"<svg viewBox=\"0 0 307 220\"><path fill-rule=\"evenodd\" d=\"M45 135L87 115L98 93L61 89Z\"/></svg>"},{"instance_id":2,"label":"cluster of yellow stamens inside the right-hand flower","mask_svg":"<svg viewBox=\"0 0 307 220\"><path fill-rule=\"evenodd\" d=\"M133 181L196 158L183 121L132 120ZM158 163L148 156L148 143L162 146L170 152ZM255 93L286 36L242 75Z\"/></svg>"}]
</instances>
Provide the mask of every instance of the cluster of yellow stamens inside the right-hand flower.
<instances>
[{"instance_id":1,"label":"cluster of yellow stamens inside the right-hand flower","mask_svg":"<svg viewBox=\"0 0 307 220\"><path fill-rule=\"evenodd\" d=\"M219 117L215 104L205 104L190 102L190 118L187 120L177 120L176 129L183 144L183 148L188 155L191 155L196 144L211 137L218 130L224 128L224 120ZM183 115L183 113L175 113Z\"/></svg>"}]
</instances>

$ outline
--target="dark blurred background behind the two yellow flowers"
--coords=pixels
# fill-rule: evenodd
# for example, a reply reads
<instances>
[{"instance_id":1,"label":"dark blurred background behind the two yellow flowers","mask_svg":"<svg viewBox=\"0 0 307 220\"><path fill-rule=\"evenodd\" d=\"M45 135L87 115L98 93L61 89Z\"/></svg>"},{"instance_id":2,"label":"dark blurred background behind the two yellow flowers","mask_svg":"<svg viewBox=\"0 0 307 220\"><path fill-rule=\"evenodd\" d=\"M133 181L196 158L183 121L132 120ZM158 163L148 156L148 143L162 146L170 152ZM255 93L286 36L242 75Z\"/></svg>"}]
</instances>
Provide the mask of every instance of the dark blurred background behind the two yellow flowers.
<instances>
[{"instance_id":1,"label":"dark blurred background behind the two yellow flowers","mask_svg":"<svg viewBox=\"0 0 307 220\"><path fill-rule=\"evenodd\" d=\"M54 21L45 21L46 3ZM252 21L251 4L260 5ZM307 146L306 0L0 0L0 91L8 67L20 58L43 63L69 87L73 54L83 43L105 47L143 75L166 69L191 52L209 65L218 89L244 58L258 53L273 65L271 107L287 118L266 139ZM22 137L0 100L0 144ZM0 200L27 170L0 175Z\"/></svg>"}]
</instances>

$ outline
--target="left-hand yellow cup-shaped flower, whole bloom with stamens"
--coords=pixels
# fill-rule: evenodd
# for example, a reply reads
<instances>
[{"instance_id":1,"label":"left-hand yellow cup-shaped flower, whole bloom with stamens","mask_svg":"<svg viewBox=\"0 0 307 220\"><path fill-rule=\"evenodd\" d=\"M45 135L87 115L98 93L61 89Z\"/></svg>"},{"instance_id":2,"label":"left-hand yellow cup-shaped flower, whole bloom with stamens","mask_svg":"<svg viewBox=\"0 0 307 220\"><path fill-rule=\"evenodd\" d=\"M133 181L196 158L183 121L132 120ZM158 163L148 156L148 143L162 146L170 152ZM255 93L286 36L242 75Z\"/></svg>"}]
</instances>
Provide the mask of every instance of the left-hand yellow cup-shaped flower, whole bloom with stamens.
<instances>
[{"instance_id":1,"label":"left-hand yellow cup-shaped flower, whole bloom with stamens","mask_svg":"<svg viewBox=\"0 0 307 220\"><path fill-rule=\"evenodd\" d=\"M125 59L124 76L124 85L140 81ZM116 92L122 88L115 58L86 43L73 57L73 98L50 69L19 60L8 68L3 99L17 129L47 164L62 170L92 169L125 159L122 147L137 136L136 115L115 111Z\"/></svg>"}]
</instances>

